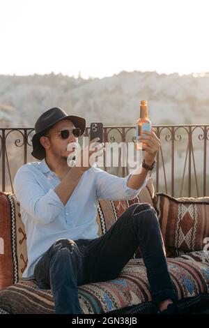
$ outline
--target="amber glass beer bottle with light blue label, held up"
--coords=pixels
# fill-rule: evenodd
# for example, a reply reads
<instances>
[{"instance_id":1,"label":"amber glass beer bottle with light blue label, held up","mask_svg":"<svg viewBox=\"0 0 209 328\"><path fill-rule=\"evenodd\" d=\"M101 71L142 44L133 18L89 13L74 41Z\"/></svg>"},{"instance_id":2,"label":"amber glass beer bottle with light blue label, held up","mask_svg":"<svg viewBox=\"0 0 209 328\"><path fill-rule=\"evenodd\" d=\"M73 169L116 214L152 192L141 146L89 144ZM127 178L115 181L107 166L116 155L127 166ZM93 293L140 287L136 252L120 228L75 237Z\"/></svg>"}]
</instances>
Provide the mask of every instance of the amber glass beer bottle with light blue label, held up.
<instances>
[{"instance_id":1,"label":"amber glass beer bottle with light blue label, held up","mask_svg":"<svg viewBox=\"0 0 209 328\"><path fill-rule=\"evenodd\" d=\"M141 135L141 131L151 131L151 122L148 119L148 110L146 100L141 100L140 103L140 117L136 123L136 137ZM143 142L137 140L137 150L144 150Z\"/></svg>"}]
</instances>

